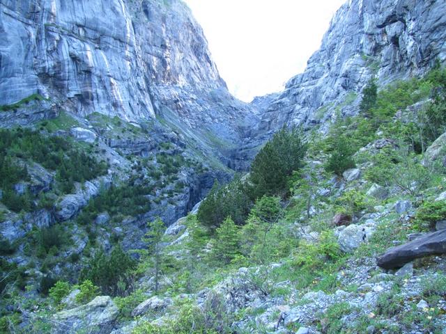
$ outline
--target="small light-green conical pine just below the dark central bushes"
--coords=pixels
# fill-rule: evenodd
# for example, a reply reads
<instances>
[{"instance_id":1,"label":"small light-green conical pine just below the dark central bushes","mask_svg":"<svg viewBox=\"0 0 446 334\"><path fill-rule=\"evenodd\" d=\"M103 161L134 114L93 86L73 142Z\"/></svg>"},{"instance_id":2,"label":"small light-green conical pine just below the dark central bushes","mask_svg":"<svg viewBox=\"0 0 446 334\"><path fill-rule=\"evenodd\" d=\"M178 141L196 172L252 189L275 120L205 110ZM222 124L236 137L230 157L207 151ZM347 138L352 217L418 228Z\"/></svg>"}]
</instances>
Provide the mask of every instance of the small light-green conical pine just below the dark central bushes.
<instances>
[{"instance_id":1,"label":"small light-green conical pine just below the dark central bushes","mask_svg":"<svg viewBox=\"0 0 446 334\"><path fill-rule=\"evenodd\" d=\"M229 264L239 254L237 225L231 217L227 217L216 232L212 258L215 262Z\"/></svg>"}]
</instances>

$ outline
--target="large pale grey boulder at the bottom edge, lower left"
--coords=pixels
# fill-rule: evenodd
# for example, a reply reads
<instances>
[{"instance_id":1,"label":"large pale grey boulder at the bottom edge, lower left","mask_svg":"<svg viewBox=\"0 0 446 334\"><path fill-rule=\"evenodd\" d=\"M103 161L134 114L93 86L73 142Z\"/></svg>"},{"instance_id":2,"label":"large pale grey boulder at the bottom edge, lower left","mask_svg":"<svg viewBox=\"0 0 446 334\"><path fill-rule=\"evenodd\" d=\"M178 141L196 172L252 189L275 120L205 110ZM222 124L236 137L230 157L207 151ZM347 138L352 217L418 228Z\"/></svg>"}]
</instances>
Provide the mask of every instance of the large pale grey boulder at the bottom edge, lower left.
<instances>
[{"instance_id":1,"label":"large pale grey boulder at the bottom edge, lower left","mask_svg":"<svg viewBox=\"0 0 446 334\"><path fill-rule=\"evenodd\" d=\"M71 330L73 333L109 334L118 314L119 309L109 296L98 296L86 305L53 315L60 324L52 333L65 334Z\"/></svg>"}]
</instances>

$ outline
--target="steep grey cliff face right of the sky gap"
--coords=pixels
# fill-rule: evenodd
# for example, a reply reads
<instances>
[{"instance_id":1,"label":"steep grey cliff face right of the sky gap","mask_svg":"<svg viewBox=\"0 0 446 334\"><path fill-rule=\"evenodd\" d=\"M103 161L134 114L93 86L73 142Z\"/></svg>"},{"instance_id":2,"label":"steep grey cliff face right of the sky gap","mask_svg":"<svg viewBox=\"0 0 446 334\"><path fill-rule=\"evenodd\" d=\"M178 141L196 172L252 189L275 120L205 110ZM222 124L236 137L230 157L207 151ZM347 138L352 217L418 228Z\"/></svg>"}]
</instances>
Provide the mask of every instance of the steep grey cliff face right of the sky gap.
<instances>
[{"instance_id":1,"label":"steep grey cliff face right of the sky gap","mask_svg":"<svg viewBox=\"0 0 446 334\"><path fill-rule=\"evenodd\" d=\"M340 107L357 112L362 87L424 73L446 60L446 2L415 0L346 1L334 15L321 48L282 93L255 99L261 127L316 125L332 120Z\"/></svg>"}]
</instances>

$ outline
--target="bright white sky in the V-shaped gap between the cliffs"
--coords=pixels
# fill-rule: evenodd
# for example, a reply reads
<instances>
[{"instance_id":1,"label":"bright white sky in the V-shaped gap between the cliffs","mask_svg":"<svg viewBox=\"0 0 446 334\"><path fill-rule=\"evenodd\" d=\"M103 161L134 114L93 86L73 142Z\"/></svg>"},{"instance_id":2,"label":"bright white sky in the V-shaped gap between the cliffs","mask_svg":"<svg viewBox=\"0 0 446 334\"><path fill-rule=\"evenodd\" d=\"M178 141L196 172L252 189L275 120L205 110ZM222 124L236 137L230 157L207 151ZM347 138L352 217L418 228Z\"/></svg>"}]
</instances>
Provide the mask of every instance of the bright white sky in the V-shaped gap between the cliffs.
<instances>
[{"instance_id":1,"label":"bright white sky in the V-shaped gap between the cliffs","mask_svg":"<svg viewBox=\"0 0 446 334\"><path fill-rule=\"evenodd\" d=\"M305 70L346 0L185 0L229 91L245 102Z\"/></svg>"}]
</instances>

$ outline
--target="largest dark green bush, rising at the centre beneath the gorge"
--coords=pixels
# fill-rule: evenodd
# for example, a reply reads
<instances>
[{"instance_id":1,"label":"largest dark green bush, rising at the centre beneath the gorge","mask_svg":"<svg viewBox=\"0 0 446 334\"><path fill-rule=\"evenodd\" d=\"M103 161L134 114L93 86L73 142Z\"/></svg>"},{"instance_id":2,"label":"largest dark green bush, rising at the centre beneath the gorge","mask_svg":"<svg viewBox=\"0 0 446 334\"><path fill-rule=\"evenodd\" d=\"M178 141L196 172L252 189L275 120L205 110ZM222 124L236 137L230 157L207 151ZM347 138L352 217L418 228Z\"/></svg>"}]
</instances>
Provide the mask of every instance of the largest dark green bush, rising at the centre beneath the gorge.
<instances>
[{"instance_id":1,"label":"largest dark green bush, rising at the centre beneath the gorge","mask_svg":"<svg viewBox=\"0 0 446 334\"><path fill-rule=\"evenodd\" d=\"M284 127L277 132L252 161L249 177L252 198L288 190L288 178L303 166L306 152L307 144L300 129Z\"/></svg>"}]
</instances>

